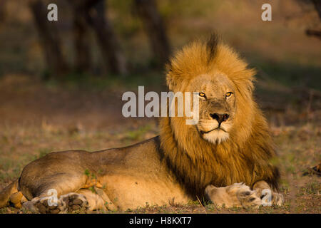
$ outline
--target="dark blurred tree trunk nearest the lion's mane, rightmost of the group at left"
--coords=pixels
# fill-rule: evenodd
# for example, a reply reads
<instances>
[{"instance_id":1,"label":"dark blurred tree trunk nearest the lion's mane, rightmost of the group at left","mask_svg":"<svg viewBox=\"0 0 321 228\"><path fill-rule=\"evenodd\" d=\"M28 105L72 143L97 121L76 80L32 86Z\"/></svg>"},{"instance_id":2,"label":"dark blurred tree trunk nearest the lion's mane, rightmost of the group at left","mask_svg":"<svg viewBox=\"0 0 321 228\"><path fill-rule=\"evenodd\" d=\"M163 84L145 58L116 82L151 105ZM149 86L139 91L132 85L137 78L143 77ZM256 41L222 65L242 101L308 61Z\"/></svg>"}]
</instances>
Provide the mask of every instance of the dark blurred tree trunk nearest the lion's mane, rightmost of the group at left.
<instances>
[{"instance_id":1,"label":"dark blurred tree trunk nearest the lion's mane, rightmost of the group at left","mask_svg":"<svg viewBox=\"0 0 321 228\"><path fill-rule=\"evenodd\" d=\"M155 0L135 0L138 16L143 21L153 52L160 64L168 61L170 46L163 20L158 12Z\"/></svg>"}]
</instances>

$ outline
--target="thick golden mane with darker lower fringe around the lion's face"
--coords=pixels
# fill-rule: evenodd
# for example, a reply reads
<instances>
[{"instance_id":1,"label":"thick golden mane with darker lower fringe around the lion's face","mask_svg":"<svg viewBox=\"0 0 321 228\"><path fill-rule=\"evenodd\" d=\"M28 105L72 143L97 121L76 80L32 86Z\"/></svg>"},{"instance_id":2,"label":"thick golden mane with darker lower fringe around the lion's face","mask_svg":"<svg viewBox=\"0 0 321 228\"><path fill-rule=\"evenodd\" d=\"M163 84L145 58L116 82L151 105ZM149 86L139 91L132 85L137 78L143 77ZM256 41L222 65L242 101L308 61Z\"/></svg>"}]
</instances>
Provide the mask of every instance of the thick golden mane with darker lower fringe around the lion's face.
<instances>
[{"instance_id":1,"label":"thick golden mane with darker lower fringe around the lion's face","mask_svg":"<svg viewBox=\"0 0 321 228\"><path fill-rule=\"evenodd\" d=\"M192 78L213 71L225 73L236 88L235 130L218 145L203 140L193 125L185 124L185 118L160 120L164 158L190 196L204 197L210 184L223 187L244 182L252 187L258 180L277 189L279 172L271 163L275 149L263 113L253 100L255 71L215 36L208 43L185 46L167 68L166 82L174 93L184 92Z\"/></svg>"}]
</instances>

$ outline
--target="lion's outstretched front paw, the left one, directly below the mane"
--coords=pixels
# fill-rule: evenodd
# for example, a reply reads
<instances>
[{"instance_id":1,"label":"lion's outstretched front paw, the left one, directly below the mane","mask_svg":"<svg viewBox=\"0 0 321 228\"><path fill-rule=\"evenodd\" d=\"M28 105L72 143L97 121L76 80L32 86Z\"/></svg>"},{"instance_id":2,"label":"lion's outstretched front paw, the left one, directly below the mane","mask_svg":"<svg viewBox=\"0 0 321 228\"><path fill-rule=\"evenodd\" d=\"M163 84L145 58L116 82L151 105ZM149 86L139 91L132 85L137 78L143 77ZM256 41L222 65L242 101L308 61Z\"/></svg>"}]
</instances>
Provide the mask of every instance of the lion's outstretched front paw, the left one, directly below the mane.
<instances>
[{"instance_id":1,"label":"lion's outstretched front paw, the left one, directly below the mane","mask_svg":"<svg viewBox=\"0 0 321 228\"><path fill-rule=\"evenodd\" d=\"M208 185L205 188L205 195L211 202L222 207L259 207L260 197L250 187L242 183L235 183L227 187L215 187Z\"/></svg>"}]
</instances>

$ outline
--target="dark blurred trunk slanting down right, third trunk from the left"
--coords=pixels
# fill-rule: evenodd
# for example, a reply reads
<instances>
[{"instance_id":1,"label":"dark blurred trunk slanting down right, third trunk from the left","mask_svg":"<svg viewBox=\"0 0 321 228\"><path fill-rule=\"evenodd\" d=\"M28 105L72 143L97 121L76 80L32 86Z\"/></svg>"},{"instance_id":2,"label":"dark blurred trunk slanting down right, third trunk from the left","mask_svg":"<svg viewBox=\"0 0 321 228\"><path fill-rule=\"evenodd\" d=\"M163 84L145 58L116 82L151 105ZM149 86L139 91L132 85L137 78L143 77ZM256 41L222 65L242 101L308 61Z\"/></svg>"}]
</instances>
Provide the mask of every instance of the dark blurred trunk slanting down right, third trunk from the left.
<instances>
[{"instance_id":1,"label":"dark blurred trunk slanting down right, third trunk from the left","mask_svg":"<svg viewBox=\"0 0 321 228\"><path fill-rule=\"evenodd\" d=\"M101 48L106 66L108 66L111 73L124 75L127 73L125 57L121 51L116 33L113 31L105 14L105 1L98 1L98 3L88 11L88 22L96 33L98 45Z\"/></svg>"}]
</instances>

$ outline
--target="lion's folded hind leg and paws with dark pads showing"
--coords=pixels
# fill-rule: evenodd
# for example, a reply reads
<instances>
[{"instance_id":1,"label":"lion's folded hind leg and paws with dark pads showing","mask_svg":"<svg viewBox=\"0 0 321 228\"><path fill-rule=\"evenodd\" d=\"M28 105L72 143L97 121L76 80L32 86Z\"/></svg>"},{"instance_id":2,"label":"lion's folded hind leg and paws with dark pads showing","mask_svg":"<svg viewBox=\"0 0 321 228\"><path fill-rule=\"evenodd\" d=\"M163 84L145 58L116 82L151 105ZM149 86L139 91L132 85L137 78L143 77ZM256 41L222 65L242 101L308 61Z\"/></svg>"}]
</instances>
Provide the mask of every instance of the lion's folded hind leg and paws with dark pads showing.
<instances>
[{"instance_id":1,"label":"lion's folded hind leg and paws with dark pads showing","mask_svg":"<svg viewBox=\"0 0 321 228\"><path fill-rule=\"evenodd\" d=\"M50 179L50 178L49 178ZM49 182L50 181L50 182ZM41 185L24 187L26 192L36 192L29 202L23 204L24 207L32 212L40 213L65 213L76 209L114 209L113 204L107 195L101 190L98 180L88 180L87 178L61 178L61 181L42 180ZM52 181L52 182L51 182ZM91 192L88 187L98 193ZM54 205L49 205L53 199L53 191L57 198Z\"/></svg>"}]
</instances>

